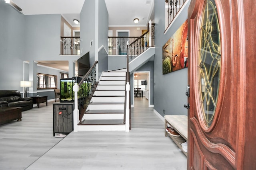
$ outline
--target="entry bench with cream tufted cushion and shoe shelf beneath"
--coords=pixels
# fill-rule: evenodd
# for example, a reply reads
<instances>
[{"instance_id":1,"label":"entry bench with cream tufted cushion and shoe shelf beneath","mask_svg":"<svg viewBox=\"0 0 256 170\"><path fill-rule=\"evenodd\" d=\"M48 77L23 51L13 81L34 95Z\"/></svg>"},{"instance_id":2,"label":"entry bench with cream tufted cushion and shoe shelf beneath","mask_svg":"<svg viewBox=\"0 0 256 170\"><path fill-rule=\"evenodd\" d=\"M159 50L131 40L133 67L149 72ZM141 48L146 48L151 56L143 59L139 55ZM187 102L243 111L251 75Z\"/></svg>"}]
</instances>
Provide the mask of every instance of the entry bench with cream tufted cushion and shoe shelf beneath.
<instances>
[{"instance_id":1,"label":"entry bench with cream tufted cushion and shoe shelf beneath","mask_svg":"<svg viewBox=\"0 0 256 170\"><path fill-rule=\"evenodd\" d=\"M178 147L182 150L181 144L188 141L188 116L186 115L165 115L164 116L164 134L169 136ZM177 133L180 134L180 137L174 137L167 133L166 128L172 127ZM184 152L184 150L182 150ZM187 153L184 152L187 156Z\"/></svg>"}]
</instances>

